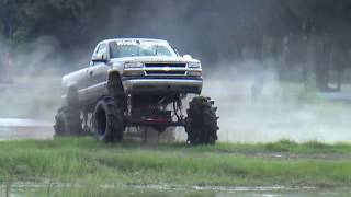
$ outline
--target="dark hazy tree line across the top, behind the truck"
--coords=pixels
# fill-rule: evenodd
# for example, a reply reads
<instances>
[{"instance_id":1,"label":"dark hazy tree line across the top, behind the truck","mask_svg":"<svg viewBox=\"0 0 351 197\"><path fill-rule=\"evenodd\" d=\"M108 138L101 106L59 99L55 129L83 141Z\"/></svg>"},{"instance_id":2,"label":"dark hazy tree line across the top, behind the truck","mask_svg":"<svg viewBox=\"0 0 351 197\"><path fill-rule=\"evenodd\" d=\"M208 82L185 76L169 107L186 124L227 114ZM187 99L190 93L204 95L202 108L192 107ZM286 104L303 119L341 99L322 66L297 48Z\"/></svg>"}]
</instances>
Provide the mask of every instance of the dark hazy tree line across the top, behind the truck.
<instances>
[{"instance_id":1,"label":"dark hazy tree line across the top, behind the truck","mask_svg":"<svg viewBox=\"0 0 351 197\"><path fill-rule=\"evenodd\" d=\"M329 71L350 67L348 0L0 0L0 37L16 49L42 36L61 51L109 37L160 37L218 61L280 59L329 90ZM87 57L88 58L88 57Z\"/></svg>"}]
</instances>

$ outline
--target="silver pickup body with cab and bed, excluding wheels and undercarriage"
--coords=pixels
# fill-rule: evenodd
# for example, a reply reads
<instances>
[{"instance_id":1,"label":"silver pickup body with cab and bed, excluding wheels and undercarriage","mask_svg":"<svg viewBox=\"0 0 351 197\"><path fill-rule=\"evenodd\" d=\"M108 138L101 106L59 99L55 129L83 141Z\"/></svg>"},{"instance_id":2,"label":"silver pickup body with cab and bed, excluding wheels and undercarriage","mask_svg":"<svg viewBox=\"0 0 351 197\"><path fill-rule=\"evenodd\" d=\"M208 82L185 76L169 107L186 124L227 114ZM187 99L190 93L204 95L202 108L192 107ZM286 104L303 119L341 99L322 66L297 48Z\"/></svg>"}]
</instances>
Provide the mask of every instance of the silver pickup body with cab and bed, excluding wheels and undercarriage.
<instances>
[{"instance_id":1,"label":"silver pickup body with cab and bed, excluding wheels and undercarriage","mask_svg":"<svg viewBox=\"0 0 351 197\"><path fill-rule=\"evenodd\" d=\"M200 94L203 83L200 61L180 56L168 42L127 38L99 43L89 67L64 77L63 85L75 86L80 100L94 102L106 94L111 72L118 73L126 94Z\"/></svg>"}]
</instances>

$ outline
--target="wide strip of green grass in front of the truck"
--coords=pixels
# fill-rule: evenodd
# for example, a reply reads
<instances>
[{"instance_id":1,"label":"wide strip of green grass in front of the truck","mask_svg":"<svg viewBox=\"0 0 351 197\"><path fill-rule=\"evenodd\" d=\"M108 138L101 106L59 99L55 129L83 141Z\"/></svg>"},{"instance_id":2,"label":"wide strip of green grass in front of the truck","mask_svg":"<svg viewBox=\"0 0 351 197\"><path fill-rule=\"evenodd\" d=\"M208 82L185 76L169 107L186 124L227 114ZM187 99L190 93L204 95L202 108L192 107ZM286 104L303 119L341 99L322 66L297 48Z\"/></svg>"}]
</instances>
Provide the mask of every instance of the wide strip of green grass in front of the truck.
<instances>
[{"instance_id":1,"label":"wide strip of green grass in front of the truck","mask_svg":"<svg viewBox=\"0 0 351 197\"><path fill-rule=\"evenodd\" d=\"M351 144L0 142L0 182L174 186L351 186ZM275 157L279 155L279 157Z\"/></svg>"}]
</instances>

